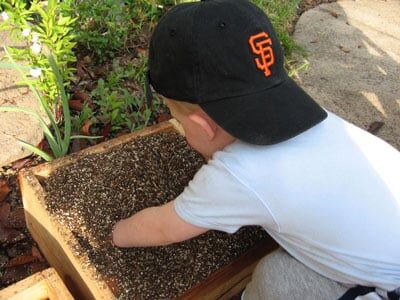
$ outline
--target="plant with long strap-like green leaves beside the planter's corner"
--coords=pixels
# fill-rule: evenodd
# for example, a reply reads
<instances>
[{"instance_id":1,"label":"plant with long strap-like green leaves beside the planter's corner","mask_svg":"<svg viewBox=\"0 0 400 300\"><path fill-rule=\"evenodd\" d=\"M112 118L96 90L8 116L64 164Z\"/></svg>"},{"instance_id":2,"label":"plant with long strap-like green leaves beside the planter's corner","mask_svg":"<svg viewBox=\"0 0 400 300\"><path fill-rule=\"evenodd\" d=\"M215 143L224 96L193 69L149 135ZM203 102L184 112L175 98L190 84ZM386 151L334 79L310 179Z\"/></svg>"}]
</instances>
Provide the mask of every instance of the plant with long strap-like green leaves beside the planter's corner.
<instances>
[{"instance_id":1,"label":"plant with long strap-like green leaves beside the planter's corner","mask_svg":"<svg viewBox=\"0 0 400 300\"><path fill-rule=\"evenodd\" d=\"M10 53L8 52L6 47L4 47L4 51L5 51L8 59L11 61L12 66L20 72L21 76L28 83L30 90L32 91L32 93L35 95L35 97L39 101L42 110L46 113L47 117L50 120L50 124L51 124L53 132L47 127L46 122L43 120L43 118L37 112L30 110L28 108L21 108L21 107L15 107L15 106L1 106L0 111L23 112L23 113L26 113L26 114L29 114L29 115L35 117L38 120L40 126L42 127L44 135L45 135L45 137L50 145L50 148L56 158L62 157L68 153L71 139L99 138L99 137L80 136L80 135L71 136L71 116L70 116L70 110L69 110L69 106L68 106L69 98L67 96L67 93L65 92L62 74L57 66L56 60L53 57L53 55L49 55L47 57L47 59L48 59L48 63L54 74L56 84L57 84L56 96L60 98L60 101L62 104L63 116L64 116L64 123L63 123L62 127L57 124L57 122L53 116L53 113L48 105L48 102L45 101L45 99L40 95L40 93L32 85L32 83L30 83L30 81L27 80L23 69L15 62L15 60L12 58L12 56L10 55ZM1 66L1 64L0 64L0 66ZM8 64L5 66L9 67ZM24 142L22 140L19 140L19 142L22 144L23 147L25 147L28 150L34 152L35 154L41 156L45 160L50 161L53 159L53 157L51 157L49 154L47 154L43 150L39 149L38 147L36 147L32 144L29 144L27 142Z\"/></svg>"}]
</instances>

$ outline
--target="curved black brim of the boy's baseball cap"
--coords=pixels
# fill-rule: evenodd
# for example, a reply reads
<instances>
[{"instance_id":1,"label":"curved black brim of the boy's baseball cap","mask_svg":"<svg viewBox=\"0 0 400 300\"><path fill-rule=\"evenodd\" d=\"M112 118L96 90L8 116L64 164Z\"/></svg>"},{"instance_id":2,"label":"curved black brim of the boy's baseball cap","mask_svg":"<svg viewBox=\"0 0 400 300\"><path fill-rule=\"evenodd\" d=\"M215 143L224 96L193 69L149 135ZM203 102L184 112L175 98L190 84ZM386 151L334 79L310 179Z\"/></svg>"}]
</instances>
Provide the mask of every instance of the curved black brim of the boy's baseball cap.
<instances>
[{"instance_id":1,"label":"curved black brim of the boy's baseball cap","mask_svg":"<svg viewBox=\"0 0 400 300\"><path fill-rule=\"evenodd\" d=\"M257 145L285 141L327 117L325 110L290 78L259 93L200 106L228 133Z\"/></svg>"}]
</instances>

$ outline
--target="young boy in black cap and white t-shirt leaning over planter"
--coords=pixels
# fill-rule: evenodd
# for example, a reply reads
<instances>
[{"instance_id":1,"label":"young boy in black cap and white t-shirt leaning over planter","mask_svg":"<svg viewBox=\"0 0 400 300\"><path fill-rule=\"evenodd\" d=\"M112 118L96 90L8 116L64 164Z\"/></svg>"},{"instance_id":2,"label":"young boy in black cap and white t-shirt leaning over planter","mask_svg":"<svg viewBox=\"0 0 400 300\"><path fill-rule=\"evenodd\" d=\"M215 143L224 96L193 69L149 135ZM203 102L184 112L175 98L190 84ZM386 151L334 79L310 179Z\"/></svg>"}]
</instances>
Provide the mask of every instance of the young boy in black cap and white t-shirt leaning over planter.
<instances>
[{"instance_id":1,"label":"young boy in black cap and white t-shirt leaning over planter","mask_svg":"<svg viewBox=\"0 0 400 300\"><path fill-rule=\"evenodd\" d=\"M260 9L175 6L153 33L149 79L208 163L174 201L118 222L115 245L260 225L284 250L259 263L245 299L337 299L356 285L347 296L399 299L400 153L288 78Z\"/></svg>"}]
</instances>

